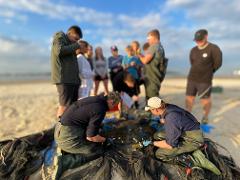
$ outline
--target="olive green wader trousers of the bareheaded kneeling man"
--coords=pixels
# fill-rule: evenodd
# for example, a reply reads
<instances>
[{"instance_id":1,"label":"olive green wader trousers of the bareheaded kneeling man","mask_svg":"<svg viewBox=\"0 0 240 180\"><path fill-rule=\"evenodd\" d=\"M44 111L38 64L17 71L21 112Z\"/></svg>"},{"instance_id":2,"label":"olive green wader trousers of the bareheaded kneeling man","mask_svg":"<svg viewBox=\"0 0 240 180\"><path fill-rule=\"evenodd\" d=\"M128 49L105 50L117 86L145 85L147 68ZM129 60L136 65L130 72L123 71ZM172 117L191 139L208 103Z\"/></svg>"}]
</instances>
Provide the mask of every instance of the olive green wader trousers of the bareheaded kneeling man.
<instances>
[{"instance_id":1,"label":"olive green wader trousers of the bareheaded kneeling man","mask_svg":"<svg viewBox=\"0 0 240 180\"><path fill-rule=\"evenodd\" d=\"M68 153L96 156L103 153L101 143L86 140L86 131L81 127L63 126L60 122L55 127L54 138L58 147Z\"/></svg>"}]
</instances>

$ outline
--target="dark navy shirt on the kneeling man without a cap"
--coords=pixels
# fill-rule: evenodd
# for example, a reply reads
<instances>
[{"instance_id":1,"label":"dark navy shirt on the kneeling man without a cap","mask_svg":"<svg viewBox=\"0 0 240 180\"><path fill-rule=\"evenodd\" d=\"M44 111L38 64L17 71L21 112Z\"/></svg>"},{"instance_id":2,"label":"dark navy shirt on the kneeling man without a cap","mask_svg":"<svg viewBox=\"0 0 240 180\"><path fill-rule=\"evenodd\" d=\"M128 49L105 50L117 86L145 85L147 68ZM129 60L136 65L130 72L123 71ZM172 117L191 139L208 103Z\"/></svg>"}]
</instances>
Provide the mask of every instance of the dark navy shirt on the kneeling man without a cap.
<instances>
[{"instance_id":1,"label":"dark navy shirt on the kneeling man without a cap","mask_svg":"<svg viewBox=\"0 0 240 180\"><path fill-rule=\"evenodd\" d=\"M93 137L99 132L102 120L108 110L107 98L103 95L90 96L73 103L62 115L64 126L80 126L86 129L86 136Z\"/></svg>"}]
</instances>

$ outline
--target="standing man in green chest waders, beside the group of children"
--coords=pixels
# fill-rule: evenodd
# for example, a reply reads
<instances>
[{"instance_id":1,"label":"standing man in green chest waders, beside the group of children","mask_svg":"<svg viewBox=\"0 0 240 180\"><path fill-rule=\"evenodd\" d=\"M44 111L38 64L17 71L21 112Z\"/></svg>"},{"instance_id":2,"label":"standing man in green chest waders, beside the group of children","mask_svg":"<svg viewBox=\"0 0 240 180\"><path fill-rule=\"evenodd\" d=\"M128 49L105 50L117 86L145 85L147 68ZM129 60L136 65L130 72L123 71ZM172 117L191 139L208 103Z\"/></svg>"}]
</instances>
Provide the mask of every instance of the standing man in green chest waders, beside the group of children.
<instances>
[{"instance_id":1,"label":"standing man in green chest waders, beside the group of children","mask_svg":"<svg viewBox=\"0 0 240 180\"><path fill-rule=\"evenodd\" d=\"M151 30L147 35L149 48L146 54L139 55L144 64L144 85L146 99L159 96L161 83L164 80L167 68L167 59L163 46L160 43L160 33L157 29Z\"/></svg>"}]
</instances>

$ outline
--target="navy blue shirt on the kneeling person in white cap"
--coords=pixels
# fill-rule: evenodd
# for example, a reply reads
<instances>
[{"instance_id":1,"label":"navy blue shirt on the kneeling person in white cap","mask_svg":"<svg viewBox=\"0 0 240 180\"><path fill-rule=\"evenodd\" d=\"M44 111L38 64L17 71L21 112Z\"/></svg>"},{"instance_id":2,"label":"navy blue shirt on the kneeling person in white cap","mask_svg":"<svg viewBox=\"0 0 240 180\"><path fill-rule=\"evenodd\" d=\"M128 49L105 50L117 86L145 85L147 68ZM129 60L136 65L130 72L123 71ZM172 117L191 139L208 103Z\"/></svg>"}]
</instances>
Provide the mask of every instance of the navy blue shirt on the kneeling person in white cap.
<instances>
[{"instance_id":1,"label":"navy blue shirt on the kneeling person in white cap","mask_svg":"<svg viewBox=\"0 0 240 180\"><path fill-rule=\"evenodd\" d=\"M200 123L191 113L173 104L167 104L161 118L165 120L166 142L172 147L178 146L183 132L200 129Z\"/></svg>"}]
</instances>

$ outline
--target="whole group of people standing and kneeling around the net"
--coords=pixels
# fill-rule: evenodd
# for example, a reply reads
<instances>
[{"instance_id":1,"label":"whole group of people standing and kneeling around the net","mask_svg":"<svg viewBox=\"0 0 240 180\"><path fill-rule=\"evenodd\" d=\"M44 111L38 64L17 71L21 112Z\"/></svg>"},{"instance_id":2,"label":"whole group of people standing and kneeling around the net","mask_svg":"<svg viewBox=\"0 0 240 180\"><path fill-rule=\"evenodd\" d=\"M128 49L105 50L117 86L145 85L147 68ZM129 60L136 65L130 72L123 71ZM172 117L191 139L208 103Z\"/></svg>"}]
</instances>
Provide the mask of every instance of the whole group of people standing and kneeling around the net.
<instances>
[{"instance_id":1,"label":"whole group of people standing and kneeling around the net","mask_svg":"<svg viewBox=\"0 0 240 180\"><path fill-rule=\"evenodd\" d=\"M117 46L112 46L112 56L108 60L101 47L95 49L93 56L93 47L81 38L82 31L78 26L70 27L66 34L58 32L53 38L52 82L56 84L60 103L55 140L62 152L79 155L81 163L99 156L102 143L107 141L99 132L106 112L116 106L121 107L121 92L131 96L138 107L139 86L144 84L147 100L145 110L160 116L165 126L165 132L155 133L156 141L149 142L158 147L156 157L169 161L183 153L194 152L197 159L204 159L204 155L197 151L203 145L200 123L190 112L198 94L204 109L202 122L207 122L213 75L222 63L221 50L208 42L207 30L201 29L194 36L197 46L190 53L187 110L159 98L168 59L157 29L147 34L144 54L139 43L133 41L126 47L127 55L124 57L118 54ZM108 74L113 92L108 90ZM93 81L94 96L89 96ZM97 95L100 81L104 83L105 94ZM203 166L201 160L195 163ZM61 171L71 168L64 156L58 159L58 166L61 166ZM220 173L214 165L207 163L207 166L215 174ZM57 171L56 179L59 174Z\"/></svg>"}]
</instances>

